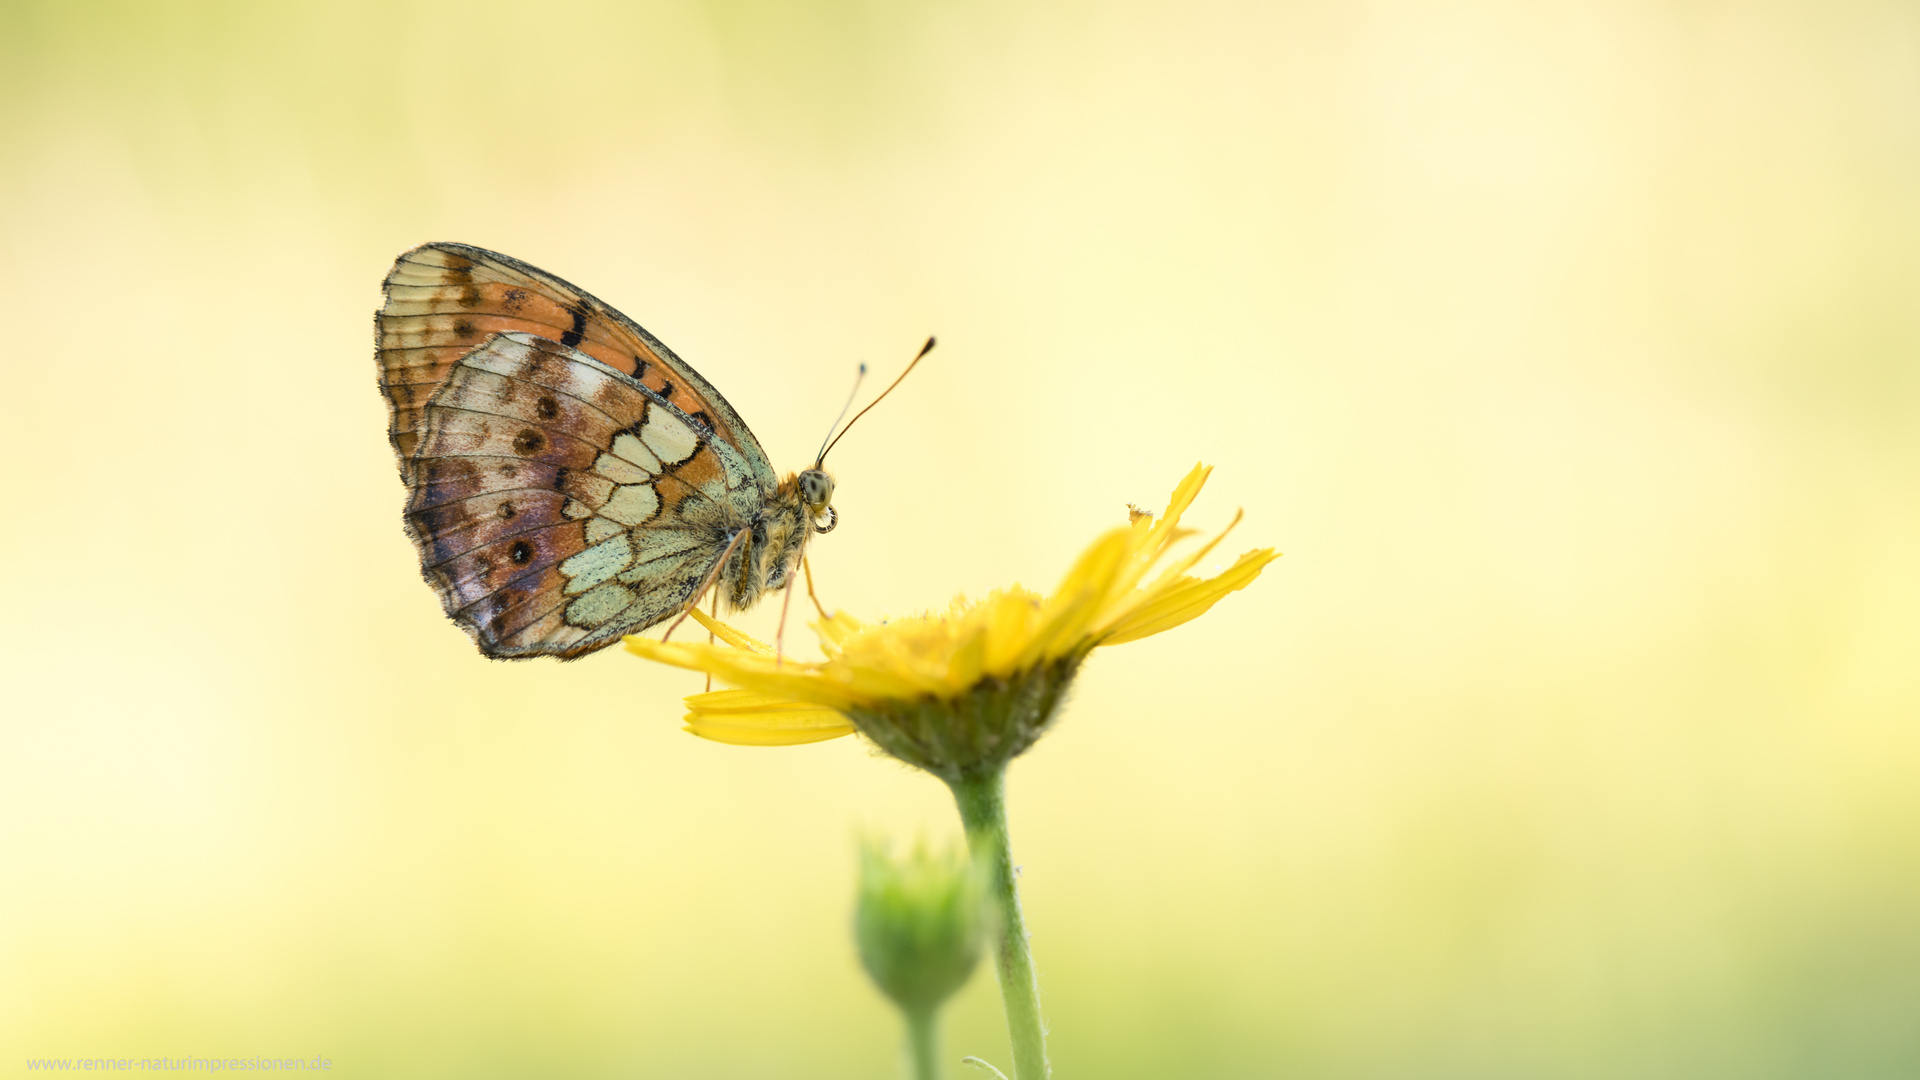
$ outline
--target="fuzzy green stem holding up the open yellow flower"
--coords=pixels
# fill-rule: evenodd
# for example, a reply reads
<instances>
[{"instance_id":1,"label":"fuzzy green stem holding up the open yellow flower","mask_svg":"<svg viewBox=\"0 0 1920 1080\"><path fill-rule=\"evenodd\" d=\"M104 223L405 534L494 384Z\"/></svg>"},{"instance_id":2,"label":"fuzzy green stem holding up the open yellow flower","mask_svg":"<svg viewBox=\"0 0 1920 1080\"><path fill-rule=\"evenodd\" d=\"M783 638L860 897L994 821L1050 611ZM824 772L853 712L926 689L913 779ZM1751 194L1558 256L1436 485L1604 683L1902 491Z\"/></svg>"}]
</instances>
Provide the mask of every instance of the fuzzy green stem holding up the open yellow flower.
<instances>
[{"instance_id":1,"label":"fuzzy green stem holding up the open yellow flower","mask_svg":"<svg viewBox=\"0 0 1920 1080\"><path fill-rule=\"evenodd\" d=\"M998 907L1000 940L993 951L1006 1007L1006 1038L1014 1045L1014 1080L1046 1080L1046 1030L1041 1026L1041 984L1033 976L1027 920L1020 915L1020 882L1006 838L1006 767L948 780L973 859L987 865L987 894Z\"/></svg>"}]
</instances>

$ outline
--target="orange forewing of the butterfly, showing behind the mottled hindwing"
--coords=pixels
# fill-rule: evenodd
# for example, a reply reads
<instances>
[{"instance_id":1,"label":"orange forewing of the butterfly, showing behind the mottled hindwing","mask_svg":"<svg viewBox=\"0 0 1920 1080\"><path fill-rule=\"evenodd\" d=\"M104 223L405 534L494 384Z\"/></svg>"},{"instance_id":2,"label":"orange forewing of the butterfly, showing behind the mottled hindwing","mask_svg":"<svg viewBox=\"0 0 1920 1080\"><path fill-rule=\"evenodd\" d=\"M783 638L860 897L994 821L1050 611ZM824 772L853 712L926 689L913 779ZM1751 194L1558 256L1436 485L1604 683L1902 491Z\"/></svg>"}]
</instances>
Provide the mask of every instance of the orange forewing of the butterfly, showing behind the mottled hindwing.
<instances>
[{"instance_id":1,"label":"orange forewing of the butterfly, showing behind the mottled hindwing","mask_svg":"<svg viewBox=\"0 0 1920 1080\"><path fill-rule=\"evenodd\" d=\"M492 334L526 332L634 377L733 448L764 490L778 484L766 452L710 382L637 323L551 273L484 248L422 244L394 261L384 292L374 350L403 479L426 404L455 361Z\"/></svg>"}]
</instances>

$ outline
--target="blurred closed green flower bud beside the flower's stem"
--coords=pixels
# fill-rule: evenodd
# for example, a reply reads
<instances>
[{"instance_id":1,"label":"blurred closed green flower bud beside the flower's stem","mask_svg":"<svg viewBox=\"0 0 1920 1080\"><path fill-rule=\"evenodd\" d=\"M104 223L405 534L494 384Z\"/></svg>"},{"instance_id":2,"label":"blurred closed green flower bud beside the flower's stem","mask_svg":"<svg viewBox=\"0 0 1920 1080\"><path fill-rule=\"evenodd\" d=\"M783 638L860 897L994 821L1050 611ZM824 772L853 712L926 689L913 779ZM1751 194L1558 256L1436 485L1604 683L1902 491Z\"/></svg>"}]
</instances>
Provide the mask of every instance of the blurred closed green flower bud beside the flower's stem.
<instances>
[{"instance_id":1,"label":"blurred closed green flower bud beside the flower's stem","mask_svg":"<svg viewBox=\"0 0 1920 1080\"><path fill-rule=\"evenodd\" d=\"M973 974L987 930L983 878L962 847L922 842L897 859L876 840L860 844L860 963L908 1019L931 1019Z\"/></svg>"}]
</instances>

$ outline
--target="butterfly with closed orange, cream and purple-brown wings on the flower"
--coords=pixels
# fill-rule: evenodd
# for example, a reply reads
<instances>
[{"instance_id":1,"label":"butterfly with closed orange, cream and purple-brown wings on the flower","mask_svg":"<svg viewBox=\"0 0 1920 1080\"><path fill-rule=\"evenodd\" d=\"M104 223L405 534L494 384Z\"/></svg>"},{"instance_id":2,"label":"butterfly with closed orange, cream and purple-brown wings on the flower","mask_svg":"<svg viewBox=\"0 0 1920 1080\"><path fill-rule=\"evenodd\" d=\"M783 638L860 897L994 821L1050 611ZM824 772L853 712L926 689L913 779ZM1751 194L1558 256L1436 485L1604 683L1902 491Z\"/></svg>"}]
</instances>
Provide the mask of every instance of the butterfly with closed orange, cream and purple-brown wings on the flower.
<instances>
[{"instance_id":1,"label":"butterfly with closed orange, cream and purple-brown wings on the flower","mask_svg":"<svg viewBox=\"0 0 1920 1080\"><path fill-rule=\"evenodd\" d=\"M707 588L751 607L839 521L831 446L778 477L712 384L586 290L422 244L384 292L374 359L407 534L482 653L586 655Z\"/></svg>"}]
</instances>

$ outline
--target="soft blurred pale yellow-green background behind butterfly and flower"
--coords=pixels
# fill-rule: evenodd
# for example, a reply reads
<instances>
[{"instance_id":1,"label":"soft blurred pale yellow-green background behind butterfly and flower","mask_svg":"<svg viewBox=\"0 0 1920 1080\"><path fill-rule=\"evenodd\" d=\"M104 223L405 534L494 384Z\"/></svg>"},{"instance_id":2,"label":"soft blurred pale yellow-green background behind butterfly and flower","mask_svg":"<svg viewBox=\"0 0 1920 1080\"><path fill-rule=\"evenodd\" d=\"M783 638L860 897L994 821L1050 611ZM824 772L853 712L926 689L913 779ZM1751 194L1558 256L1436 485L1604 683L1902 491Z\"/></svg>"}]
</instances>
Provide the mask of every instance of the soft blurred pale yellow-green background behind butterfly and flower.
<instances>
[{"instance_id":1,"label":"soft blurred pale yellow-green background behind butterfly and flower","mask_svg":"<svg viewBox=\"0 0 1920 1080\"><path fill-rule=\"evenodd\" d=\"M371 315L463 240L781 469L939 334L835 452L829 603L1052 586L1196 459L1196 525L1286 552L1012 771L1058 1076L1920 1074L1916 42L0 4L0 1068L900 1068L852 838L950 836L945 790L689 738L699 678L620 651L484 661L419 580ZM948 1047L1006 1063L989 972Z\"/></svg>"}]
</instances>

